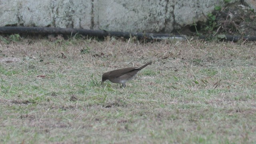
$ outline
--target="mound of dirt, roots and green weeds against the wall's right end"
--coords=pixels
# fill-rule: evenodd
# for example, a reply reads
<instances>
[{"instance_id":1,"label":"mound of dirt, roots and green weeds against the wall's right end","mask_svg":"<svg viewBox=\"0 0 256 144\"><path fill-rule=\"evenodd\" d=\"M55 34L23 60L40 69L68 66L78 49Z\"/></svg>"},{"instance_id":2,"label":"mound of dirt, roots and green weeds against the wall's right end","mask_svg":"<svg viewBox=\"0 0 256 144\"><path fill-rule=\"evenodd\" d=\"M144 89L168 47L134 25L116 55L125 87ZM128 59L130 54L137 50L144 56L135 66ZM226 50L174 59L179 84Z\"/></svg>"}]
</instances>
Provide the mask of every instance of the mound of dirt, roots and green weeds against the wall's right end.
<instances>
[{"instance_id":1,"label":"mound of dirt, roots and green weeds against the wall's right end","mask_svg":"<svg viewBox=\"0 0 256 144\"><path fill-rule=\"evenodd\" d=\"M197 29L194 26L185 27L180 33L207 37L217 36L218 34L256 36L256 15L254 11L242 2L215 6L215 10L206 15L207 22L198 22L196 24L198 25Z\"/></svg>"}]
</instances>

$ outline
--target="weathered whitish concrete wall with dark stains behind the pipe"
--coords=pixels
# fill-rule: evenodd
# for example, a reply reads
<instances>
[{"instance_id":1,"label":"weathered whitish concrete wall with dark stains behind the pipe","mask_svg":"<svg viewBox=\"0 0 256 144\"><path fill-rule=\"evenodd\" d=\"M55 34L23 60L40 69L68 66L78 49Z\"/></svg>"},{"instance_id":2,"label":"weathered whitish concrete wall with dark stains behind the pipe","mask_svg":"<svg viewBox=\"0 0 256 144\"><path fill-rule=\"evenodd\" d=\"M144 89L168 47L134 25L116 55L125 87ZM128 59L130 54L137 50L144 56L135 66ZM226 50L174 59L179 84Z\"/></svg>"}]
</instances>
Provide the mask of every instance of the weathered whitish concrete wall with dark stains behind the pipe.
<instances>
[{"instance_id":1,"label":"weathered whitish concrete wall with dark stains behind the pipe","mask_svg":"<svg viewBox=\"0 0 256 144\"><path fill-rule=\"evenodd\" d=\"M234 0L233 0L234 1ZM171 32L205 21L224 0L0 0L0 26Z\"/></svg>"}]
</instances>

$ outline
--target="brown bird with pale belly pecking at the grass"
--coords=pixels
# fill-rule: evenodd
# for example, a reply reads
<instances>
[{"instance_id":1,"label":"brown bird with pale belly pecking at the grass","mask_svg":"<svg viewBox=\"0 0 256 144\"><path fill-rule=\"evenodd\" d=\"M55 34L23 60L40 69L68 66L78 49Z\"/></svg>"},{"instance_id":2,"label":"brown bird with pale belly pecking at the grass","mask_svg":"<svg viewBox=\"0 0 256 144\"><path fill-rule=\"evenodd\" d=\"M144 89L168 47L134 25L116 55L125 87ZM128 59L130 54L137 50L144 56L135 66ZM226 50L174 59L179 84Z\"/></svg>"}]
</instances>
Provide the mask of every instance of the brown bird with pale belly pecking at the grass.
<instances>
[{"instance_id":1,"label":"brown bird with pale belly pecking at the grass","mask_svg":"<svg viewBox=\"0 0 256 144\"><path fill-rule=\"evenodd\" d=\"M122 84L123 87L126 87L126 82L128 80L132 80L136 77L137 73L142 70L142 68L145 68L152 62L148 62L144 66L138 68L138 67L133 67L133 68L122 68L119 70L113 70L110 72L106 72L102 75L102 81L101 84L103 84L104 81L109 80L110 82L113 83L118 83Z\"/></svg>"}]
</instances>

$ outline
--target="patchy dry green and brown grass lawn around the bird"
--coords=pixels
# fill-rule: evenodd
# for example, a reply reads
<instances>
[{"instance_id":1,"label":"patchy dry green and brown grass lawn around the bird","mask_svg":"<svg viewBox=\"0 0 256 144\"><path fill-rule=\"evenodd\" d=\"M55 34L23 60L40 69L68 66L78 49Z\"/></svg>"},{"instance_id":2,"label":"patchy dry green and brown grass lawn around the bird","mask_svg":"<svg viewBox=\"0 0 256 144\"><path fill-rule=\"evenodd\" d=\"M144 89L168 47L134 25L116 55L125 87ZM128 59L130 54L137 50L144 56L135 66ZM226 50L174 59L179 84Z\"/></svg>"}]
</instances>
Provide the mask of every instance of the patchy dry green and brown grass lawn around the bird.
<instances>
[{"instance_id":1,"label":"patchy dry green and brown grass lawn around the bird","mask_svg":"<svg viewBox=\"0 0 256 144\"><path fill-rule=\"evenodd\" d=\"M1 39L0 143L256 143L255 42Z\"/></svg>"}]
</instances>

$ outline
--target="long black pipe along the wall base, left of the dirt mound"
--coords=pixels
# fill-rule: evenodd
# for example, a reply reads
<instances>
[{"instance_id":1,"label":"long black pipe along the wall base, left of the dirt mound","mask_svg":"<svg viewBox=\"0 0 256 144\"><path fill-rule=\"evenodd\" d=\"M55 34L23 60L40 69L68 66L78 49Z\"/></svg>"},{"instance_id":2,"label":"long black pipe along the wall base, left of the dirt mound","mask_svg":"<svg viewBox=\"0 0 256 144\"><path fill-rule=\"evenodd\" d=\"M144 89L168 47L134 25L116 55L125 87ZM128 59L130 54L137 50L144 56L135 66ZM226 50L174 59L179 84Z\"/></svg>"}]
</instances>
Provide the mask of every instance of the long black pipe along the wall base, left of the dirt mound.
<instances>
[{"instance_id":1,"label":"long black pipe along the wall base, left of the dirt mound","mask_svg":"<svg viewBox=\"0 0 256 144\"><path fill-rule=\"evenodd\" d=\"M3 26L0 27L0 34L63 34L75 35L81 34L84 36L96 36L104 38L106 36L116 36L130 38L130 36L137 36L138 39L185 39L185 36L173 36L170 34L153 34L141 32L111 32L105 30L86 30L76 28L48 28L48 27L17 27L17 26Z\"/></svg>"}]
</instances>

